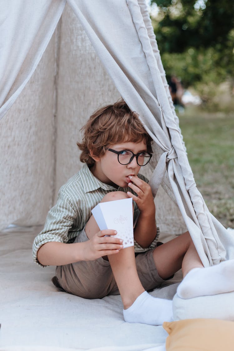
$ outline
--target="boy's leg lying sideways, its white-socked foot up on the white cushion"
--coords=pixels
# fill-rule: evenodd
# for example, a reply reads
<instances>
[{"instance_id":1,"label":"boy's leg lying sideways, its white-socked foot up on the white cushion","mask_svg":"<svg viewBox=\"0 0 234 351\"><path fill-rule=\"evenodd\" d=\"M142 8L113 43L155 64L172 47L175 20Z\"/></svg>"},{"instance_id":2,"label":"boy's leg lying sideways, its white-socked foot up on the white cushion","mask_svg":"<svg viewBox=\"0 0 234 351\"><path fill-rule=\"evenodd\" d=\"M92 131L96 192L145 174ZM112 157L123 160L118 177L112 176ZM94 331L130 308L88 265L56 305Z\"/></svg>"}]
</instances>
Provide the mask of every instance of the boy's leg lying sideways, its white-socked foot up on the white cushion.
<instances>
[{"instance_id":1,"label":"boy's leg lying sideways, its white-socked foot up on the white cushion","mask_svg":"<svg viewBox=\"0 0 234 351\"><path fill-rule=\"evenodd\" d=\"M159 275L169 278L182 267L179 297L188 299L234 291L234 260L204 268L188 232L157 247L154 261Z\"/></svg>"}]
</instances>

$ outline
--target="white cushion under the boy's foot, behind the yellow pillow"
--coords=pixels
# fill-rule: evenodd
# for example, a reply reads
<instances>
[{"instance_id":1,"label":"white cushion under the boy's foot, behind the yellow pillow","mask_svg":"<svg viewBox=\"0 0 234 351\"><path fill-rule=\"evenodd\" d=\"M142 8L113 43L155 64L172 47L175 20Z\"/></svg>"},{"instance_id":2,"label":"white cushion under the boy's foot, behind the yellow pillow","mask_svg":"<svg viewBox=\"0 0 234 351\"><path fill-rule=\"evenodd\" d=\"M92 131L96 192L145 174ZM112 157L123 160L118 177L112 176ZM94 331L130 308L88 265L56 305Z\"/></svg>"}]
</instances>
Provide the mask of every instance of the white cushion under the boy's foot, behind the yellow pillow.
<instances>
[{"instance_id":1,"label":"white cushion under the boy's foot, behind the yellow pillow","mask_svg":"<svg viewBox=\"0 0 234 351\"><path fill-rule=\"evenodd\" d=\"M234 321L234 291L213 296L181 299L173 298L174 320L191 318L217 318ZM233 349L234 350L234 349Z\"/></svg>"}]
</instances>

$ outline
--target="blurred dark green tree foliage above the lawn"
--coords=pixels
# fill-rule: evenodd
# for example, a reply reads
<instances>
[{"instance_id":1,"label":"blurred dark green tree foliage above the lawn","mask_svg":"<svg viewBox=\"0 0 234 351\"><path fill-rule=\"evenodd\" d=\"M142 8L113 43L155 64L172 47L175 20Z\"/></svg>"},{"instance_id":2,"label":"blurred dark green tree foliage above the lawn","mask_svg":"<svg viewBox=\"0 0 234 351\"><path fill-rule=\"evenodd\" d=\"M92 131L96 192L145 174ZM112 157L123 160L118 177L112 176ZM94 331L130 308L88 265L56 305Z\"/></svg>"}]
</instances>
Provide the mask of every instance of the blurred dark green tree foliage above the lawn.
<instances>
[{"instance_id":1,"label":"blurred dark green tree foliage above the lawn","mask_svg":"<svg viewBox=\"0 0 234 351\"><path fill-rule=\"evenodd\" d=\"M234 86L234 2L230 0L152 0L152 18L163 66L209 103L217 86ZM207 89L208 87L208 89Z\"/></svg>"}]
</instances>

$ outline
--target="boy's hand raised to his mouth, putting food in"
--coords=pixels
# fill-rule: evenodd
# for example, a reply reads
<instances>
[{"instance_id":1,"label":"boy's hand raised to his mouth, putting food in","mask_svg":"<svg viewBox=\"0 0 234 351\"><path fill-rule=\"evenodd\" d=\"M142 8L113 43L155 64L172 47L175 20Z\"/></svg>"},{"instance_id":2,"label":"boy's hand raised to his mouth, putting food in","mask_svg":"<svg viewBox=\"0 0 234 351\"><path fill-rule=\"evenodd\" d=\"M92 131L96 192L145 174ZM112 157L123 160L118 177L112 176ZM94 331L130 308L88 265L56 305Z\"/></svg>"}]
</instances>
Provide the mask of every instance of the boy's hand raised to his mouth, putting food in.
<instances>
[{"instance_id":1,"label":"boy's hand raised to his mouth, putting food in","mask_svg":"<svg viewBox=\"0 0 234 351\"><path fill-rule=\"evenodd\" d=\"M155 204L150 185L135 176L129 176L129 180L129 188L134 190L138 196L133 195L129 191L127 192L128 196L135 201L143 215L147 217L155 216Z\"/></svg>"}]
</instances>

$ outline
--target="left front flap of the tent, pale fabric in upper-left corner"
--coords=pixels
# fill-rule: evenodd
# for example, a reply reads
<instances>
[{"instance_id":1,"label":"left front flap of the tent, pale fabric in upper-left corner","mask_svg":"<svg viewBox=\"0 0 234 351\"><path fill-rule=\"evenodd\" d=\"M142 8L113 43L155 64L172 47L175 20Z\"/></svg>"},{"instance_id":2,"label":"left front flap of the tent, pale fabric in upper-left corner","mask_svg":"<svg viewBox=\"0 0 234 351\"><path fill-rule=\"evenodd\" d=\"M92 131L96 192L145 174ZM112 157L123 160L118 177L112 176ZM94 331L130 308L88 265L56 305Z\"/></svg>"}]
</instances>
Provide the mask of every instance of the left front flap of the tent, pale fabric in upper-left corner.
<instances>
[{"instance_id":1,"label":"left front flap of the tent, pale fabric in upper-left corner","mask_svg":"<svg viewBox=\"0 0 234 351\"><path fill-rule=\"evenodd\" d=\"M1 1L0 120L35 71L66 0Z\"/></svg>"}]
</instances>

